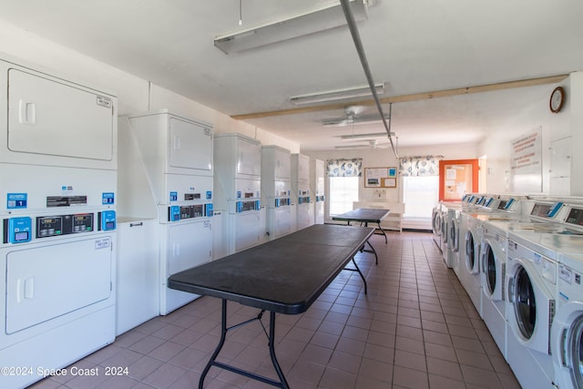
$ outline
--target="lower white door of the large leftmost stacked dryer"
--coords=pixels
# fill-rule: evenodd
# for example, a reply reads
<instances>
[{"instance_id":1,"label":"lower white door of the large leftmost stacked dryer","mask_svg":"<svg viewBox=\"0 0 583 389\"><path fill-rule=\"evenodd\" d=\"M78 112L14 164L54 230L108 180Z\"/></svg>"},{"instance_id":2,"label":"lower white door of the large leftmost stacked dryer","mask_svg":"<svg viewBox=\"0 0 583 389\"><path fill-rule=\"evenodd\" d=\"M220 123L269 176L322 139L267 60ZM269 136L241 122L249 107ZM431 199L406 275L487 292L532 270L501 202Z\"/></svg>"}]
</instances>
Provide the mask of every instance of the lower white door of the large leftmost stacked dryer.
<instances>
[{"instance_id":1,"label":"lower white door of the large leftmost stacked dryer","mask_svg":"<svg viewBox=\"0 0 583 389\"><path fill-rule=\"evenodd\" d=\"M15 333L107 300L111 239L59 243L6 255L6 333Z\"/></svg>"}]
</instances>

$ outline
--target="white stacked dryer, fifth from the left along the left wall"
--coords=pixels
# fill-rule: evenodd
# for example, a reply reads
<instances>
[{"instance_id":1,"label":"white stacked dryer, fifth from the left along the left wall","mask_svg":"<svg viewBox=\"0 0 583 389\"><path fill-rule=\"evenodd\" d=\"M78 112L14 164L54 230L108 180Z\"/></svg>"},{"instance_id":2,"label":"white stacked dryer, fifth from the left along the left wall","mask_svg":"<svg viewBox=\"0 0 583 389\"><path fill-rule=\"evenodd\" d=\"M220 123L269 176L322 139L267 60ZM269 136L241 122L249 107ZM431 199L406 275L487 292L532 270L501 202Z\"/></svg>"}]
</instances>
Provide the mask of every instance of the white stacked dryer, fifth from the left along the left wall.
<instances>
[{"instance_id":1,"label":"white stacked dryer, fifth from the left along the left wall","mask_svg":"<svg viewBox=\"0 0 583 389\"><path fill-rule=\"evenodd\" d=\"M310 157L292 154L292 202L296 206L297 230L313 224L313 204L310 197Z\"/></svg>"}]
</instances>

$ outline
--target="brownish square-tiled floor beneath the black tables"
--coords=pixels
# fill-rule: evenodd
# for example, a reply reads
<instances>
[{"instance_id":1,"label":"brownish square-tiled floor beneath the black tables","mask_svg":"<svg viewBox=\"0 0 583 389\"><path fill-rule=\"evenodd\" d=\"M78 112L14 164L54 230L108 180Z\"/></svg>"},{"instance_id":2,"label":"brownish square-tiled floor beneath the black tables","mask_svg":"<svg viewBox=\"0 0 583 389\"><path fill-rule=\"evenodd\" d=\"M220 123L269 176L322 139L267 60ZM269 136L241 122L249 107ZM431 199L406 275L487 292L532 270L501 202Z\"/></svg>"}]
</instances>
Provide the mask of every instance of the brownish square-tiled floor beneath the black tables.
<instances>
[{"instance_id":1,"label":"brownish square-tiled floor beneath the black tables","mask_svg":"<svg viewBox=\"0 0 583 389\"><path fill-rule=\"evenodd\" d=\"M278 315L276 353L292 388L519 388L455 273L445 267L432 235L373 236L379 254L359 253L368 295L353 271L343 271L300 315ZM230 325L257 310L229 303ZM269 325L269 316L263 318ZM202 297L118 336L74 363L97 376L49 377L47 388L193 388L220 337L220 300ZM259 322L228 335L220 361L276 378ZM127 367L106 376L105 367ZM205 388L267 388L216 367Z\"/></svg>"}]
</instances>

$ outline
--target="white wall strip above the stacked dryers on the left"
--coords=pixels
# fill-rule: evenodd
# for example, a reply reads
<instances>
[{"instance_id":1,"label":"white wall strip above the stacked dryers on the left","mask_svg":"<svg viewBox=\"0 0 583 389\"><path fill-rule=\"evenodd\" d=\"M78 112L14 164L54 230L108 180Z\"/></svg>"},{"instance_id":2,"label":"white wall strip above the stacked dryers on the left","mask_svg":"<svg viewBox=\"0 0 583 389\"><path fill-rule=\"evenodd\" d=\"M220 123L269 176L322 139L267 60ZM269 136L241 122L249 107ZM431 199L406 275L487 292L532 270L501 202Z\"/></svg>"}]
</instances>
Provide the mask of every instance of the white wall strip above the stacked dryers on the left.
<instances>
[{"instance_id":1,"label":"white wall strip above the stacked dryers on the left","mask_svg":"<svg viewBox=\"0 0 583 389\"><path fill-rule=\"evenodd\" d=\"M62 77L87 80L87 85L113 92L118 97L118 115L168 108L170 112L187 118L196 118L213 125L215 132L239 132L257 138L264 145L277 145L299 152L300 145L234 120L210 107L182 97L148 80L135 77L116 67L84 56L76 51L57 45L41 36L0 22L0 53L23 59L26 62L51 71Z\"/></svg>"}]
</instances>

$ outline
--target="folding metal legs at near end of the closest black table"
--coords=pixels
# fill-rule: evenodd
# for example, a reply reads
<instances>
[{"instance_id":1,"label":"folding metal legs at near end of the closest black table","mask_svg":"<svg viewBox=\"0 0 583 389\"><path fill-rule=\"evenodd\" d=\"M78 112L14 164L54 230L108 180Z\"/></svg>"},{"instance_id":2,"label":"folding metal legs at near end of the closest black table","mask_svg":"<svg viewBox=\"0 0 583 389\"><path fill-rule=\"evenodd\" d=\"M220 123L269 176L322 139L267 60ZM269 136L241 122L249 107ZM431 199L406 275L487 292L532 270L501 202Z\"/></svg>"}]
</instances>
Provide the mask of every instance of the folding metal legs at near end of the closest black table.
<instances>
[{"instance_id":1,"label":"folding metal legs at near end of the closest black table","mask_svg":"<svg viewBox=\"0 0 583 389\"><path fill-rule=\"evenodd\" d=\"M230 364L217 362L217 356L219 356L220 350L222 349L222 346L225 343L225 340L227 338L227 332L229 330L238 328L241 325L245 325L245 324L248 324L250 322L254 322L256 320L261 322L261 316L263 315L264 311L261 311L259 313L259 315L257 315L256 318L253 318L253 319L248 320L246 322L240 322L239 324L235 324L231 327L227 327L227 300L225 300L225 299L222 299L222 306L221 306L220 312L221 312L220 313L221 318L220 318L219 345L217 346L217 349L214 351L214 353L212 353L212 356L210 357L210 361L205 366L204 370L202 371L202 374L200 374L199 389L202 389L202 386L204 384L204 379L207 376L207 374L209 374L210 366L217 366L221 369L229 370L232 373L241 374L241 375L244 375L244 376L251 378L253 380L261 381L264 384L271 384L273 386L281 387L282 389L290 389L290 385L285 380L285 376L283 375L283 372L281 371L280 363L278 363L277 358L275 357L275 312L270 312L270 333L268 336L268 340L269 340L269 347L270 347L271 363L273 363L273 368L275 369L275 372L277 373L278 377L280 378L280 381L275 381L275 380L272 380L271 378L264 377L260 374L254 374L254 373L248 372L246 370L242 370L238 367L231 366ZM262 325L263 324L261 323L261 326ZM263 327L263 330L265 330L265 327Z\"/></svg>"}]
</instances>

